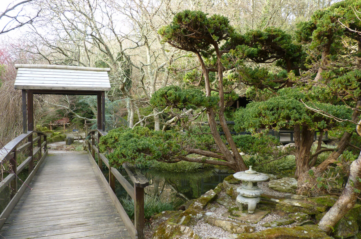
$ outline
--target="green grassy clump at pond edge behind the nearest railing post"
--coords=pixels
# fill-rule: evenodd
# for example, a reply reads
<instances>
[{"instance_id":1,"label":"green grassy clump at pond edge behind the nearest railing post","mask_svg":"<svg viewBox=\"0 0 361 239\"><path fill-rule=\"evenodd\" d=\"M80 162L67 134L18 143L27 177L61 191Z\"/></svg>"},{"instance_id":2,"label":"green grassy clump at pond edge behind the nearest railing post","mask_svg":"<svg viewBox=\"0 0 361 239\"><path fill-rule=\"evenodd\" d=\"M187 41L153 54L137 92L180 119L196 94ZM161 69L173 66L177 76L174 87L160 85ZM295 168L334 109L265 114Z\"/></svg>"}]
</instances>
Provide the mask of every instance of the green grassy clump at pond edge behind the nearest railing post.
<instances>
[{"instance_id":1,"label":"green grassy clump at pond edge behind the nearest railing post","mask_svg":"<svg viewBox=\"0 0 361 239\"><path fill-rule=\"evenodd\" d=\"M130 218L134 218L134 201L133 199L121 199L124 210L127 212ZM144 197L144 218L149 219L153 215L168 211L174 210L175 205L173 203L164 203L160 198L155 198L145 195Z\"/></svg>"}]
</instances>

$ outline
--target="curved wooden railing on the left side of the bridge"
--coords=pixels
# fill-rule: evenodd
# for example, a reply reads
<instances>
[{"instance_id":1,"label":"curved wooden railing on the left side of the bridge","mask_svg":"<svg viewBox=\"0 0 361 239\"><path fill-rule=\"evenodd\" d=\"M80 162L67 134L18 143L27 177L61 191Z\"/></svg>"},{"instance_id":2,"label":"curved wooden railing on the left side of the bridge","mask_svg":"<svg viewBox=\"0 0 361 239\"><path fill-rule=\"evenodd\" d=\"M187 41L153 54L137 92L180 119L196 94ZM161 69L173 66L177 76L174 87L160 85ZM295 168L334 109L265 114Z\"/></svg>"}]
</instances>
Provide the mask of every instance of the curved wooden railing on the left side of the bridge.
<instances>
[{"instance_id":1,"label":"curved wooden railing on the left side of the bridge","mask_svg":"<svg viewBox=\"0 0 361 239\"><path fill-rule=\"evenodd\" d=\"M33 136L35 134L35 137ZM9 175L3 178L0 182L0 192L3 191L7 186L10 187L10 202L5 207L3 212L0 214L0 228L4 225L6 218L10 215L15 205L19 201L21 195L28 187L31 179L34 177L36 171L38 171L41 163L48 154L47 135L42 131L27 131L25 134L21 134L15 139L11 140L8 144L0 150L0 166L2 169L4 165L9 167ZM42 142L43 139L43 142ZM34 147L36 144L36 147ZM39 147L40 146L40 147ZM42 148L44 154L42 155ZM25 151L27 158L18 164L17 156ZM37 156L38 161L34 168L34 158ZM17 179L18 174L28 165L29 176L22 182L21 187L18 190Z\"/></svg>"}]
</instances>

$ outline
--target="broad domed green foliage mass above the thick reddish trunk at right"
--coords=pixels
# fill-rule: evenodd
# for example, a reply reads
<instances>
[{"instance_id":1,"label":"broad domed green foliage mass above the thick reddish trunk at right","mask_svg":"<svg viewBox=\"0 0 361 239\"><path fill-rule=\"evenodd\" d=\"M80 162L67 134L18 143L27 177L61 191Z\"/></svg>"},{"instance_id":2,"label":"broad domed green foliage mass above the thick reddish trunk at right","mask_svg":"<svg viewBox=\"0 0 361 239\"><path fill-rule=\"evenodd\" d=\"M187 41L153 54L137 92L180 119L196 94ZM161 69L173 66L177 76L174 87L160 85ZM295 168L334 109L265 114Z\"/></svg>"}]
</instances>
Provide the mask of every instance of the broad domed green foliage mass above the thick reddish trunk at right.
<instances>
[{"instance_id":1,"label":"broad domed green foliage mass above the thick reddish trunk at right","mask_svg":"<svg viewBox=\"0 0 361 239\"><path fill-rule=\"evenodd\" d=\"M255 131L255 129L291 128L295 125L307 125L309 129L328 129L334 119L315 114L307 109L300 101L308 103L306 93L298 88L284 88L278 91L279 95L269 100L252 102L245 109L239 109L235 114L236 130ZM315 105L339 118L350 118L351 110L344 105L331 105L318 102Z\"/></svg>"}]
</instances>

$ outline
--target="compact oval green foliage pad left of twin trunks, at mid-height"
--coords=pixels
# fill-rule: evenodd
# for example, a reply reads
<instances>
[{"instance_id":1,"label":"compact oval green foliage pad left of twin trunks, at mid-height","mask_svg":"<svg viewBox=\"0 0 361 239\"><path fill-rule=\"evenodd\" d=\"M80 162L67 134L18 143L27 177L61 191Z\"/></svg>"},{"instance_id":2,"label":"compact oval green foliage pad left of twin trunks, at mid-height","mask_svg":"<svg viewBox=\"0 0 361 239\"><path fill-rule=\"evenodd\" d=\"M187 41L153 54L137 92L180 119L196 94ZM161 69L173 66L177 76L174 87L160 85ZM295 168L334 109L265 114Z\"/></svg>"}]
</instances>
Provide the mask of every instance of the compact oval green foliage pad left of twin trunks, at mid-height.
<instances>
[{"instance_id":1,"label":"compact oval green foliage pad left of twin trunks, at mid-height","mask_svg":"<svg viewBox=\"0 0 361 239\"><path fill-rule=\"evenodd\" d=\"M233 97L230 96L230 97ZM204 92L179 86L166 86L157 90L150 100L150 104L162 110L167 106L175 109L196 109L198 107L213 108L218 104L218 96L206 97Z\"/></svg>"}]
</instances>

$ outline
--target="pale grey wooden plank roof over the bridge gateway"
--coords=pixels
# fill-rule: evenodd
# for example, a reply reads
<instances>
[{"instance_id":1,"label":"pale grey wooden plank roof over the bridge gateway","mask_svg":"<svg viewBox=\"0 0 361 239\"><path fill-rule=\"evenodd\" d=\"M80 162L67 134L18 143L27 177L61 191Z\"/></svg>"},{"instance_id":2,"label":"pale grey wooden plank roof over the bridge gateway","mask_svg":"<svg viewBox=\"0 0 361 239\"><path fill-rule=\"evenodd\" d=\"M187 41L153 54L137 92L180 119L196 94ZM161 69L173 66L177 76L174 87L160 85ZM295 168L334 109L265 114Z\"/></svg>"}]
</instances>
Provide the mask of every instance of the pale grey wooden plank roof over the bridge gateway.
<instances>
[{"instance_id":1,"label":"pale grey wooden plank roof over the bridge gateway","mask_svg":"<svg viewBox=\"0 0 361 239\"><path fill-rule=\"evenodd\" d=\"M109 91L109 68L16 64L15 89Z\"/></svg>"}]
</instances>

